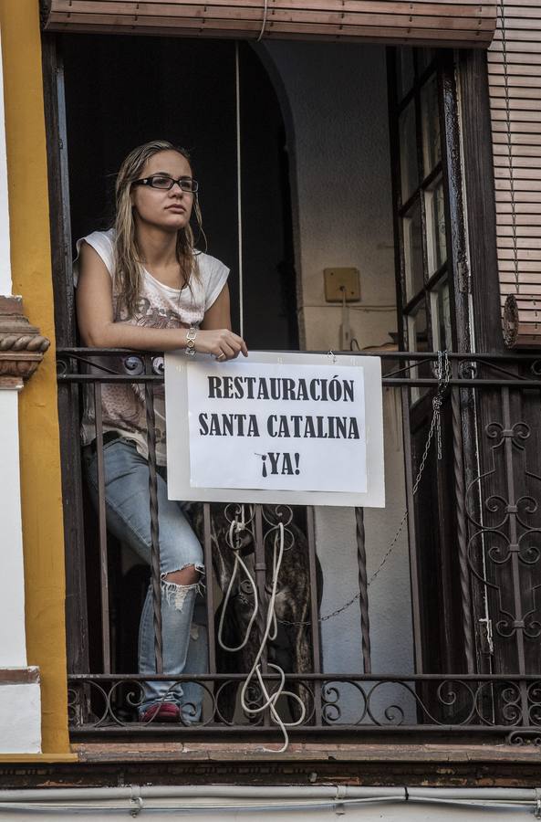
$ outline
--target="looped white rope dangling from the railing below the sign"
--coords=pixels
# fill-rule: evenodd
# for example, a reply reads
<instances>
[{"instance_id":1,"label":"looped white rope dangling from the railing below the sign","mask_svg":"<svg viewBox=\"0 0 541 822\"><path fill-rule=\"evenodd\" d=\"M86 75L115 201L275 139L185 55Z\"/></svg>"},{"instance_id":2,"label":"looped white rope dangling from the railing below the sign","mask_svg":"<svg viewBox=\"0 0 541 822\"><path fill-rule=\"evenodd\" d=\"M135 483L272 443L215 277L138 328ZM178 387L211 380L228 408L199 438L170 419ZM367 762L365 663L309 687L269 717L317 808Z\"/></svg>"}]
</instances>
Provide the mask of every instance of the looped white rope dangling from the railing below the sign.
<instances>
[{"instance_id":1,"label":"looped white rope dangling from the railing below the sign","mask_svg":"<svg viewBox=\"0 0 541 822\"><path fill-rule=\"evenodd\" d=\"M246 645L246 643L248 641L248 638L250 636L252 626L254 625L255 617L259 613L259 597L258 597L258 594L257 594L257 585L255 584L254 577L252 576L252 574L250 574L250 571L249 571L247 565L244 563L244 561L243 561L243 559L240 555L240 549L241 549L240 533L242 531L244 531L244 529L245 529L245 522L244 522L244 506L243 506L242 507L242 512L241 512L241 519L239 520L237 518L237 519L234 520L234 522L231 523L231 528L229 529L229 533L228 533L228 543L229 543L230 547L234 550L234 568L233 568L233 573L231 574L231 579L229 581L229 585L227 586L227 591L226 591L225 596L224 596L224 605L222 607L222 614L220 616L220 625L218 627L218 643L220 644L220 647L224 648L224 650L232 651L232 652L240 650L241 648L244 648L244 646ZM268 534L267 534L267 538L268 538ZM303 701L300 699L300 697L296 693L293 693L290 690L285 690L284 689L284 686L286 684L286 674L285 674L284 670L280 668L279 665L275 665L273 662L268 662L267 663L267 668L273 669L274 671L276 671L276 673L280 677L280 681L278 683L278 686L277 686L276 690L273 691L273 693L269 693L268 690L266 690L265 681L264 681L263 675L261 673L261 664L260 663L261 663L261 658L262 658L262 656L264 654L264 651L265 651L267 640L268 639L271 639L271 640L276 639L276 634L277 634L277 629L278 629L277 622L276 622L275 606L276 606L276 594L277 594L277 588L278 588L278 575L280 573L280 566L282 564L282 557L283 556L284 556L284 523L283 522L278 522L278 524L276 525L275 542L274 542L274 546L273 546L273 582L272 582L272 589L271 589L271 595L270 595L270 598L269 598L268 608L267 608L267 612L266 612L265 631L263 633L263 637L261 638L261 642L260 642L257 654L255 655L255 660L254 660L254 664L252 665L252 669L250 670L250 672L248 673L246 679L244 680L243 687L241 689L241 696L240 696L241 707L247 715L255 716L258 713L262 713L266 709L270 710L271 717L273 718L274 722L276 722L276 724L279 726L280 730L282 731L282 733L284 735L284 744L282 745L282 747L277 752L278 754L283 754L286 751L287 746L289 744L289 736L287 734L287 728L294 728L296 725L300 725L302 722L305 721L306 715L307 715L306 707L305 707ZM229 600L230 600L230 597L231 597L231 592L233 590L236 575L238 574L239 566L243 568L244 574L246 574L247 578L250 581L250 585L252 586L252 590L254 592L254 611L252 613L252 616L250 617L250 620L248 622L248 626L246 627L244 638L243 638L241 644L237 648L229 648L224 644L224 640L223 640L224 615L225 615L225 611L227 609L227 606L229 604ZM250 705L248 705L247 700L246 700L246 692L247 692L248 688L250 687L251 681L254 680L254 678L256 678L256 680L259 684L259 688L261 689L261 693L263 695L262 704L258 705L256 708L250 707ZM280 716L280 714L276 710L276 702L282 696L288 697L290 700L297 701L297 704L300 707L300 716L299 716L299 718L297 719L296 722L286 722L285 720L282 719L282 717ZM264 748L263 750L267 753L276 753L271 748Z\"/></svg>"}]
</instances>

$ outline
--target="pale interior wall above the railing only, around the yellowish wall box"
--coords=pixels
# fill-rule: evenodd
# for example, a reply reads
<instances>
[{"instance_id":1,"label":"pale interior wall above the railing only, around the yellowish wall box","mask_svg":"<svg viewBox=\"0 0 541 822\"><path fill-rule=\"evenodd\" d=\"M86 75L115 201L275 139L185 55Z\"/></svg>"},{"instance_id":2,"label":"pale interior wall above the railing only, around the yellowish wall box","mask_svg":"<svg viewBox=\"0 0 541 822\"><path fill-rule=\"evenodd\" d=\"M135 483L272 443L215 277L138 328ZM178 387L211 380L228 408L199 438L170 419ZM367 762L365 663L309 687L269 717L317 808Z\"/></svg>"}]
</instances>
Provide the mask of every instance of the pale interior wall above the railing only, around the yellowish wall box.
<instances>
[{"instance_id":1,"label":"pale interior wall above the railing only, around the yellowish wall box","mask_svg":"<svg viewBox=\"0 0 541 822\"><path fill-rule=\"evenodd\" d=\"M362 304L390 307L351 311L360 346L389 342L396 321L385 49L294 41L265 48L293 120L306 348L338 347L340 308L324 300L329 266L359 268Z\"/></svg>"}]
</instances>

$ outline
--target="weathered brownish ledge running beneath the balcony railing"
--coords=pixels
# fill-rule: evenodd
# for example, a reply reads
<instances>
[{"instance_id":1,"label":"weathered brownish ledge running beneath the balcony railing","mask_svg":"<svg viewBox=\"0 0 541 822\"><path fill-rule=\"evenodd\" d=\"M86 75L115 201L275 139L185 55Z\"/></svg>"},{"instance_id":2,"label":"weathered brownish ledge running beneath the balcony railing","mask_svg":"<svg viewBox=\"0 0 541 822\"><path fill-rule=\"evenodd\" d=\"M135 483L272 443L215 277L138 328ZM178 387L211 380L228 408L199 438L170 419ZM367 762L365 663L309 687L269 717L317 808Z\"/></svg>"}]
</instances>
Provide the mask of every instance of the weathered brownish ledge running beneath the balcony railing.
<instances>
[{"instance_id":1,"label":"weathered brownish ledge running beneath the balcony railing","mask_svg":"<svg viewBox=\"0 0 541 822\"><path fill-rule=\"evenodd\" d=\"M292 742L278 754L261 743L78 743L72 752L76 762L0 761L0 787L541 784L533 744Z\"/></svg>"}]
</instances>

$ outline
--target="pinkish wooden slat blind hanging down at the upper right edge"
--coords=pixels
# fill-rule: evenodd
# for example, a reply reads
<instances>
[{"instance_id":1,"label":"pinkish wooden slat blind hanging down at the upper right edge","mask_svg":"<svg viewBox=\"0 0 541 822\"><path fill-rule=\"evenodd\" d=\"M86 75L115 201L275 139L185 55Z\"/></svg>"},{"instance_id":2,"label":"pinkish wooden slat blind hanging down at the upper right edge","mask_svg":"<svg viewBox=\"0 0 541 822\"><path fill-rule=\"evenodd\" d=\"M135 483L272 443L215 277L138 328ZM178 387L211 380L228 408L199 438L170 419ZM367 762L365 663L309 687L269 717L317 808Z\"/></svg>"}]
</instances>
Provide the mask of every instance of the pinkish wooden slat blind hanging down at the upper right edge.
<instances>
[{"instance_id":1,"label":"pinkish wooden slat blind hanging down at the upper right edge","mask_svg":"<svg viewBox=\"0 0 541 822\"><path fill-rule=\"evenodd\" d=\"M508 345L537 347L541 345L541 0L505 0L498 7L504 10L504 19L500 14L488 69L504 333Z\"/></svg>"}]
</instances>

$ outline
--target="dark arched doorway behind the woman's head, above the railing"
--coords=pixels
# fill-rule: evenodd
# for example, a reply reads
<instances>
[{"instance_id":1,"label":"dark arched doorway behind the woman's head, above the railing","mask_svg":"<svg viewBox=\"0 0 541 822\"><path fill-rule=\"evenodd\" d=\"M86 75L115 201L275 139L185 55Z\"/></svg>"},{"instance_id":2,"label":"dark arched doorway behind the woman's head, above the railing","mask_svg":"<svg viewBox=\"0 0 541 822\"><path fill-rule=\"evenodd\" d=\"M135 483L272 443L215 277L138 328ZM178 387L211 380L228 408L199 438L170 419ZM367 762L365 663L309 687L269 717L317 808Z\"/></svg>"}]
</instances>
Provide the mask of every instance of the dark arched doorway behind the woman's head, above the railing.
<instances>
[{"instance_id":1,"label":"dark arched doorway behind the woman's head, above the railing","mask_svg":"<svg viewBox=\"0 0 541 822\"><path fill-rule=\"evenodd\" d=\"M80 35L59 47L72 240L109 225L114 176L132 147L157 138L182 145L200 180L209 253L231 268L234 329L242 324L253 349L296 349L286 131L253 48Z\"/></svg>"}]
</instances>

